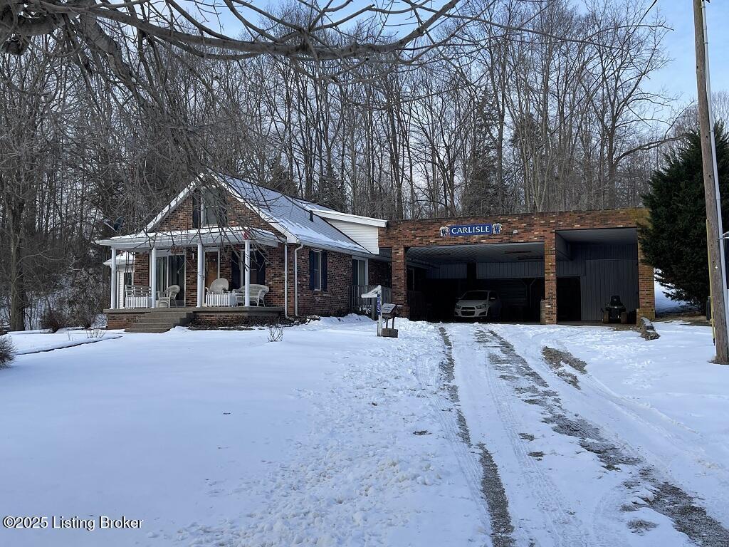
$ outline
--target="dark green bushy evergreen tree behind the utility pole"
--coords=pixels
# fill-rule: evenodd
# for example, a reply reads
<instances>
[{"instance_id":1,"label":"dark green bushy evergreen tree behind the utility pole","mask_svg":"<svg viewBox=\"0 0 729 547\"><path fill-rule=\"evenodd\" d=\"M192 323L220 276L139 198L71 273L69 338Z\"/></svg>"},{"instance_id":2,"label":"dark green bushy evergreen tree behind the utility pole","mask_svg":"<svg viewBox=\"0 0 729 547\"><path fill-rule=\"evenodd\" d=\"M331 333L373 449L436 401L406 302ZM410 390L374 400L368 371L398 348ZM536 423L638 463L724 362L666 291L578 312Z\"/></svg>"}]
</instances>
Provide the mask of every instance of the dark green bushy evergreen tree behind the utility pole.
<instances>
[{"instance_id":1,"label":"dark green bushy evergreen tree behind the utility pole","mask_svg":"<svg viewBox=\"0 0 729 547\"><path fill-rule=\"evenodd\" d=\"M716 126L717 167L722 195L724 230L729 229L729 139ZM654 171L643 196L650 225L641 228L640 242L647 262L658 268L658 279L674 300L704 308L709 298L709 259L706 252L706 201L703 195L701 136L687 133L682 146L665 156L666 166Z\"/></svg>"}]
</instances>

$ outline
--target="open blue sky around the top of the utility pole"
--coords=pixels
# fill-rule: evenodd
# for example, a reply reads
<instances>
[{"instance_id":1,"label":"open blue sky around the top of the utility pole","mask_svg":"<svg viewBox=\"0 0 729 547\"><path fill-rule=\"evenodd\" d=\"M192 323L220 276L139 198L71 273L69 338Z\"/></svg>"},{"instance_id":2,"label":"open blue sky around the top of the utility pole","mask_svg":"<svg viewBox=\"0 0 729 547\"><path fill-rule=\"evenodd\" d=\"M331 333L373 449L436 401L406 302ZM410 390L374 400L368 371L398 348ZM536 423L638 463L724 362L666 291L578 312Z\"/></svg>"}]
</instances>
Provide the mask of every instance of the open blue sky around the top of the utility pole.
<instances>
[{"instance_id":1,"label":"open blue sky around the top of the utility pole","mask_svg":"<svg viewBox=\"0 0 729 547\"><path fill-rule=\"evenodd\" d=\"M672 30L666 34L666 53L674 61L652 77L652 90L661 88L682 102L696 97L696 56L693 32L692 0L658 0L658 9ZM709 74L712 91L729 91L729 0L712 0L706 4L709 28Z\"/></svg>"}]
</instances>

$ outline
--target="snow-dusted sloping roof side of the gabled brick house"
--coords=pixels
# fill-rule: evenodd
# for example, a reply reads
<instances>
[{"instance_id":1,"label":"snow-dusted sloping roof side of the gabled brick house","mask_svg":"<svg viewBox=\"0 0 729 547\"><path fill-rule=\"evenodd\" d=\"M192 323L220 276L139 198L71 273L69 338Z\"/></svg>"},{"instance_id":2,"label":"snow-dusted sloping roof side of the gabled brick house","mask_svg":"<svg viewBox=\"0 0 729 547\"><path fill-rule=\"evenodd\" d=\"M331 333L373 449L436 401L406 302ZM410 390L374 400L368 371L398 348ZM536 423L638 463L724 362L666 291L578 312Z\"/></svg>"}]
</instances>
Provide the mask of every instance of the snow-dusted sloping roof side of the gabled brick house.
<instances>
[{"instance_id":1,"label":"snow-dusted sloping roof side of the gabled brick house","mask_svg":"<svg viewBox=\"0 0 729 547\"><path fill-rule=\"evenodd\" d=\"M339 252L372 254L316 214L316 209L327 208L232 176L220 178L243 203L250 206L270 225L281 230L289 243L303 243L308 247L321 247Z\"/></svg>"}]
</instances>

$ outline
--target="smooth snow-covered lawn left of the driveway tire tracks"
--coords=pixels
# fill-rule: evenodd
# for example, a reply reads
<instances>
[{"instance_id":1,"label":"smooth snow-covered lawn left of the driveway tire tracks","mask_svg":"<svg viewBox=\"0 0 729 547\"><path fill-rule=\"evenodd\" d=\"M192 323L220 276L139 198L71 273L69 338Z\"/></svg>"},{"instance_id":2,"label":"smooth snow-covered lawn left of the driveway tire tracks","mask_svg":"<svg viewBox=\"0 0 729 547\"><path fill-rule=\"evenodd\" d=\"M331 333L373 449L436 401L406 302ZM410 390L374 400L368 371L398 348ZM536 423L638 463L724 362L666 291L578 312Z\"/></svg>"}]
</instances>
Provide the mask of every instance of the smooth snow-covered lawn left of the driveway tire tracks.
<instances>
[{"instance_id":1,"label":"smooth snow-covered lawn left of the driveway tire tracks","mask_svg":"<svg viewBox=\"0 0 729 547\"><path fill-rule=\"evenodd\" d=\"M378 339L368 319L325 319L276 343L178 328L20 355L0 371L0 514L144 523L0 528L0 545L483 543L413 374L440 352L435 327L402 326Z\"/></svg>"}]
</instances>

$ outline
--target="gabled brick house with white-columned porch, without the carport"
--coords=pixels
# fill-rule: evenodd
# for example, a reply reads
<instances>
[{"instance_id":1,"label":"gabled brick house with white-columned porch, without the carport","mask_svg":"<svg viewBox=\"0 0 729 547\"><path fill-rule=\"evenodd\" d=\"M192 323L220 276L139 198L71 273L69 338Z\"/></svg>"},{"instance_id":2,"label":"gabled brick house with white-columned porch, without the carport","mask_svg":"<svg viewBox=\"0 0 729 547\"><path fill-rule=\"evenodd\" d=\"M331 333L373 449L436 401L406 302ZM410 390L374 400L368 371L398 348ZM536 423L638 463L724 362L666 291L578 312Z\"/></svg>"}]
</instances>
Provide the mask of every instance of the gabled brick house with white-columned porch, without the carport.
<instances>
[{"instance_id":1,"label":"gabled brick house with white-columned porch, without the carport","mask_svg":"<svg viewBox=\"0 0 729 547\"><path fill-rule=\"evenodd\" d=\"M166 330L192 318L346 314L351 287L389 285L378 247L385 225L231 176L200 176L140 233L98 241L112 249L107 325ZM215 289L217 279L227 290ZM259 301L261 286L268 292Z\"/></svg>"}]
</instances>

